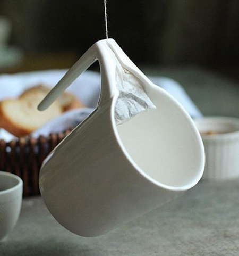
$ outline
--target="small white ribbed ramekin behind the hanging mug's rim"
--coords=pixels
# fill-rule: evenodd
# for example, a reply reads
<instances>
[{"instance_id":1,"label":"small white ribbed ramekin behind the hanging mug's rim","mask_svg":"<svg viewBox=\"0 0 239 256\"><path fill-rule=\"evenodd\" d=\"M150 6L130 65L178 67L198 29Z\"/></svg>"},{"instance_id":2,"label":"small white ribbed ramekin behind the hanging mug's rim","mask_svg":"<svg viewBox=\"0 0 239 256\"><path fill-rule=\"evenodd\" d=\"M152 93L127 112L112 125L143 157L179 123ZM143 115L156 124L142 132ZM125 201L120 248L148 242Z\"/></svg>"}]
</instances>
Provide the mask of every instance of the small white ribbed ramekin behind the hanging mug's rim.
<instances>
[{"instance_id":1,"label":"small white ribbed ramekin behind the hanging mug's rim","mask_svg":"<svg viewBox=\"0 0 239 256\"><path fill-rule=\"evenodd\" d=\"M206 154L203 179L223 181L239 177L239 119L203 117L194 122Z\"/></svg>"}]
</instances>

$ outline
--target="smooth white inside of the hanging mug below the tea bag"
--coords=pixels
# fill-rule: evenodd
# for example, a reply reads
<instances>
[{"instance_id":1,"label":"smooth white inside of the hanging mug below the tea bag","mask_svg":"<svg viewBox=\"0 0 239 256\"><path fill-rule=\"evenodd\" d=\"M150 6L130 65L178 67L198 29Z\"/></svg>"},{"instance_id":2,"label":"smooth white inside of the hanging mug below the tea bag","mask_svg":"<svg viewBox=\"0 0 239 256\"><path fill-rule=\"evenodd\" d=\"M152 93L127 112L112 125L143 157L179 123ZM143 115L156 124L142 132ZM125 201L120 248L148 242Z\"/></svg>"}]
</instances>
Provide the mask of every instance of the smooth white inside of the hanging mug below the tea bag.
<instances>
[{"instance_id":1,"label":"smooth white inside of the hanging mug below the tea bag","mask_svg":"<svg viewBox=\"0 0 239 256\"><path fill-rule=\"evenodd\" d=\"M143 175L174 187L195 185L204 168L201 137L192 119L164 92L148 93L157 109L116 126L131 161Z\"/></svg>"}]
</instances>

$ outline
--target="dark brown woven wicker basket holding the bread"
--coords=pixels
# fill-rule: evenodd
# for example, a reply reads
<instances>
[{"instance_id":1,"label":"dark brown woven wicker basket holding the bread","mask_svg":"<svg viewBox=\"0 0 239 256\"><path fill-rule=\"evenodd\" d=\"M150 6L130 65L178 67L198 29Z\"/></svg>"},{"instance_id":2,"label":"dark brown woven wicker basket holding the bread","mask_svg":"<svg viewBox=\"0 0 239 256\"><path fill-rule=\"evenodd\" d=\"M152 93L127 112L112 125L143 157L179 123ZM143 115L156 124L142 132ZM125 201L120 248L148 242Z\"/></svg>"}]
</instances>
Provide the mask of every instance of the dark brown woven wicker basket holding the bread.
<instances>
[{"instance_id":1,"label":"dark brown woven wicker basket holding the bread","mask_svg":"<svg viewBox=\"0 0 239 256\"><path fill-rule=\"evenodd\" d=\"M21 137L11 142L0 140L0 170L12 172L23 180L23 195L40 194L38 178L42 162L53 148L71 132L39 138Z\"/></svg>"}]
</instances>

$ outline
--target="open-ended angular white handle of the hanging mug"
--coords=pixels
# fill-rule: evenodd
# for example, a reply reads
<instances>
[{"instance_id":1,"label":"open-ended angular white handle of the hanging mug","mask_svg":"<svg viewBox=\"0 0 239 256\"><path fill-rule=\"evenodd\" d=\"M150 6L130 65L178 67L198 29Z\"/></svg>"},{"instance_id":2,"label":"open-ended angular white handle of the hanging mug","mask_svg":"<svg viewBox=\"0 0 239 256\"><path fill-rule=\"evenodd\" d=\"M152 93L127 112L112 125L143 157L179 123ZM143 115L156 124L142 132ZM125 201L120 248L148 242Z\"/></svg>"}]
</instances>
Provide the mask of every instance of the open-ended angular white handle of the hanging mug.
<instances>
[{"instance_id":1,"label":"open-ended angular white handle of the hanging mug","mask_svg":"<svg viewBox=\"0 0 239 256\"><path fill-rule=\"evenodd\" d=\"M113 39L112 39L113 40ZM113 40L114 41L114 40ZM115 42L116 44L116 42ZM109 48L107 39L93 44L86 53L69 69L56 86L50 90L38 105L38 110L46 110L81 73L87 70L95 61L99 61L101 73L101 90L98 105L103 105L118 95L115 82L116 60Z\"/></svg>"}]
</instances>

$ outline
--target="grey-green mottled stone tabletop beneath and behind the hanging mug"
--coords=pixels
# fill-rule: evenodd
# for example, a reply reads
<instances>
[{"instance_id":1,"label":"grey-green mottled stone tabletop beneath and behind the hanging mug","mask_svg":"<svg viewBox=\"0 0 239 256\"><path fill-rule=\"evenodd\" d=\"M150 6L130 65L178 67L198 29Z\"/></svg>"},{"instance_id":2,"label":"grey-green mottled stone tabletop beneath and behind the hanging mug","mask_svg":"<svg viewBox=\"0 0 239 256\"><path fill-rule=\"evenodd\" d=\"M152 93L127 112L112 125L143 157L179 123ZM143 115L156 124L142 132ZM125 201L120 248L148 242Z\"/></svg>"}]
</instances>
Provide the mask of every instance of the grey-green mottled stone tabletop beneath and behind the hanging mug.
<instances>
[{"instance_id":1,"label":"grey-green mottled stone tabletop beneath and behind the hanging mug","mask_svg":"<svg viewBox=\"0 0 239 256\"><path fill-rule=\"evenodd\" d=\"M204 115L239 117L239 83L198 68L146 68L148 75L180 82ZM103 236L70 233L40 196L23 199L22 211L0 256L239 255L239 179L201 180L183 195Z\"/></svg>"}]
</instances>

